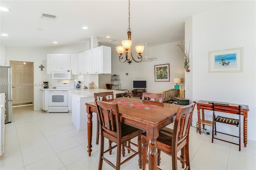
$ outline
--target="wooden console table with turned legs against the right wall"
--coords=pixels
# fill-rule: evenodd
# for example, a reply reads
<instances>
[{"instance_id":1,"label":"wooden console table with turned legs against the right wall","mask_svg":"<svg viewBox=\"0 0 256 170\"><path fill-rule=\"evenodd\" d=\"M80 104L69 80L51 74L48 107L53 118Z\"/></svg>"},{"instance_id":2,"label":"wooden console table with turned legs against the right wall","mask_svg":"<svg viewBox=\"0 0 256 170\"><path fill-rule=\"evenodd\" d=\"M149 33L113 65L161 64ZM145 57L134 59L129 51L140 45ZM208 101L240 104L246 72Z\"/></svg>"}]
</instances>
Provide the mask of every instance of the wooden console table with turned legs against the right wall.
<instances>
[{"instance_id":1,"label":"wooden console table with turned legs against the right wall","mask_svg":"<svg viewBox=\"0 0 256 170\"><path fill-rule=\"evenodd\" d=\"M198 116L198 129L199 129L200 134L201 134L201 124L203 125L203 127L204 127L204 125L212 126L212 121L204 120L204 109L212 111L212 104L208 103L208 102L209 101L198 101L196 103L197 116ZM218 102L216 102L216 103L218 103ZM239 104L229 103L229 105L238 106ZM202 109L202 119L201 119L200 109ZM241 115L244 116L244 147L246 147L246 144L247 144L247 117L248 117L247 114L248 114L248 111L249 111L248 105L241 105Z\"/></svg>"}]
</instances>

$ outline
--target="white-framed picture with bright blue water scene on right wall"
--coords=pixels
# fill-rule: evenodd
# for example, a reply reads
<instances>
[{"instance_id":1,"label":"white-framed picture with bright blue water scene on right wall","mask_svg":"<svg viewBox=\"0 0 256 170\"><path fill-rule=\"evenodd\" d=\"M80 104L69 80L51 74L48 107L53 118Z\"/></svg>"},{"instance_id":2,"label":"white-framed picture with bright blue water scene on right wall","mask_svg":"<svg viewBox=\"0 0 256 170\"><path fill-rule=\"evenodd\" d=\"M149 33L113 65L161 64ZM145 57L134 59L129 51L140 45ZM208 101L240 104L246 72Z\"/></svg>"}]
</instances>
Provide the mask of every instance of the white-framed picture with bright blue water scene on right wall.
<instances>
[{"instance_id":1,"label":"white-framed picture with bright blue water scene on right wall","mask_svg":"<svg viewBox=\"0 0 256 170\"><path fill-rule=\"evenodd\" d=\"M243 72L244 48L209 51L209 73Z\"/></svg>"}]
</instances>

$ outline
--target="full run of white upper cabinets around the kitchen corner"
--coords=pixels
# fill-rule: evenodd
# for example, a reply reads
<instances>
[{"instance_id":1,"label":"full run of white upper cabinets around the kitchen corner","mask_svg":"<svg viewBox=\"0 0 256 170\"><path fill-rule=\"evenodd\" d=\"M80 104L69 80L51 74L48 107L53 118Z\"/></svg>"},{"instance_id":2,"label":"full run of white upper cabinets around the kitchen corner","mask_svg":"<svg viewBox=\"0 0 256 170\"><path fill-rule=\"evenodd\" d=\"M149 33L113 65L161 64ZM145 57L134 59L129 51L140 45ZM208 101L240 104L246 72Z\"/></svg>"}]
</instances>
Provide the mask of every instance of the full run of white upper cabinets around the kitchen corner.
<instances>
[{"instance_id":1,"label":"full run of white upper cabinets around the kitchen corner","mask_svg":"<svg viewBox=\"0 0 256 170\"><path fill-rule=\"evenodd\" d=\"M100 46L79 54L47 54L47 74L70 69L72 75L111 74L111 47Z\"/></svg>"}]
</instances>

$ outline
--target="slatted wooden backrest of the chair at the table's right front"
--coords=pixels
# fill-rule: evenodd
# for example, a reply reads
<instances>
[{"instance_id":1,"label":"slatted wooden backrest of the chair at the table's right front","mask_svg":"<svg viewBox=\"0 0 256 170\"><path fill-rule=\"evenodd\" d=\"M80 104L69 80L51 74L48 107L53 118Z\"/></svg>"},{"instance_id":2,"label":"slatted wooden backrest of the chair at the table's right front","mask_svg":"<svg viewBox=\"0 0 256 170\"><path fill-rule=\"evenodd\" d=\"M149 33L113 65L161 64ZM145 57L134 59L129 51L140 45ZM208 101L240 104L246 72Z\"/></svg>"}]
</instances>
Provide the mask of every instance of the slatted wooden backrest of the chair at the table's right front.
<instances>
[{"instance_id":1,"label":"slatted wooden backrest of the chair at the table's right front","mask_svg":"<svg viewBox=\"0 0 256 170\"><path fill-rule=\"evenodd\" d=\"M173 128L172 147L176 147L188 138L195 104L196 102L193 101L190 105L178 108Z\"/></svg>"}]
</instances>

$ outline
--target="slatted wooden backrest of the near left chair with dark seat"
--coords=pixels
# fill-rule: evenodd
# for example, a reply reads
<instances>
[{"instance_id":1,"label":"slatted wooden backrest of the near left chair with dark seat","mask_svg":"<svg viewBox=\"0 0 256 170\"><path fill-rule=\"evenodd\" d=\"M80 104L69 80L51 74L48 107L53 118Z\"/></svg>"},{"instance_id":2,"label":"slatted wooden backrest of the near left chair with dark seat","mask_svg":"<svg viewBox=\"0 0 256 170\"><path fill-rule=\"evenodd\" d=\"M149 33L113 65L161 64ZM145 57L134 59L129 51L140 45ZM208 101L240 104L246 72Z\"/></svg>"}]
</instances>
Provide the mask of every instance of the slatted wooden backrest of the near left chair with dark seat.
<instances>
[{"instance_id":1,"label":"slatted wooden backrest of the near left chair with dark seat","mask_svg":"<svg viewBox=\"0 0 256 170\"><path fill-rule=\"evenodd\" d=\"M102 134L107 133L116 138L121 138L121 121L117 103L109 103L96 99L95 103Z\"/></svg>"}]
</instances>

